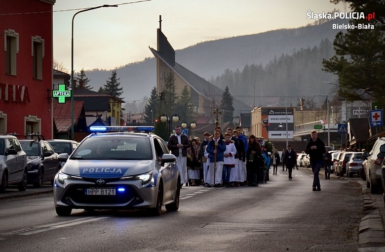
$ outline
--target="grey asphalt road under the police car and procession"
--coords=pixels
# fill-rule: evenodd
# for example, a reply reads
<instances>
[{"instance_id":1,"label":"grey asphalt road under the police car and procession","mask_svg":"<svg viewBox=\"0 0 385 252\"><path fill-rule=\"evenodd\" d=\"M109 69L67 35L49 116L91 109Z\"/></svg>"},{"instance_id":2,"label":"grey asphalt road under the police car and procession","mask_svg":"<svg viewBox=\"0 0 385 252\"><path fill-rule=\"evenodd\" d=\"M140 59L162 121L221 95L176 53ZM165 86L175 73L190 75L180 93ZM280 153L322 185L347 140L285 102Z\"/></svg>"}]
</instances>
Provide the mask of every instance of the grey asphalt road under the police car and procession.
<instances>
[{"instance_id":1,"label":"grey asphalt road under the police car and procession","mask_svg":"<svg viewBox=\"0 0 385 252\"><path fill-rule=\"evenodd\" d=\"M322 177L321 177L322 178ZM360 178L321 180L309 169L270 174L259 187L183 187L177 212L74 210L56 215L52 188L0 195L1 251L385 251L382 195ZM364 183L365 184L364 184ZM369 217L368 217L369 216ZM370 217L372 216L372 217ZM376 219L375 217L378 217ZM360 226L368 220L371 227ZM381 230L374 230L380 224Z\"/></svg>"}]
</instances>

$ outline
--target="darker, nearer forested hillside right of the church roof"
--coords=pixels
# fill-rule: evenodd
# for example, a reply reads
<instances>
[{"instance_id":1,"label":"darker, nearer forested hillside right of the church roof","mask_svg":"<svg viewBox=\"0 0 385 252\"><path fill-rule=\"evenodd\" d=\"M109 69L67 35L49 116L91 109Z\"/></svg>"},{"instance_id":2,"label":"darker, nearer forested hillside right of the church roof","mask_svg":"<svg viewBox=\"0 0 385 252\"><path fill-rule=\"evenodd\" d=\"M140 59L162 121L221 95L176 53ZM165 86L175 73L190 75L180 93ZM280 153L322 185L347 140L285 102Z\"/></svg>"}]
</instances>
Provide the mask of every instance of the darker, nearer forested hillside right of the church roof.
<instances>
[{"instance_id":1,"label":"darker, nearer forested hillside right of the church roof","mask_svg":"<svg viewBox=\"0 0 385 252\"><path fill-rule=\"evenodd\" d=\"M274 57L265 66L251 64L242 70L227 69L210 82L222 89L229 86L235 98L255 106L266 106L269 102L278 101L276 97L280 97L280 101L292 103L293 106L301 98L307 101L313 98L325 100L325 96L313 96L328 94L333 88L323 83L334 82L336 77L322 71L322 59L328 59L334 54L332 42L325 39L318 46L302 48L291 55Z\"/></svg>"}]
</instances>

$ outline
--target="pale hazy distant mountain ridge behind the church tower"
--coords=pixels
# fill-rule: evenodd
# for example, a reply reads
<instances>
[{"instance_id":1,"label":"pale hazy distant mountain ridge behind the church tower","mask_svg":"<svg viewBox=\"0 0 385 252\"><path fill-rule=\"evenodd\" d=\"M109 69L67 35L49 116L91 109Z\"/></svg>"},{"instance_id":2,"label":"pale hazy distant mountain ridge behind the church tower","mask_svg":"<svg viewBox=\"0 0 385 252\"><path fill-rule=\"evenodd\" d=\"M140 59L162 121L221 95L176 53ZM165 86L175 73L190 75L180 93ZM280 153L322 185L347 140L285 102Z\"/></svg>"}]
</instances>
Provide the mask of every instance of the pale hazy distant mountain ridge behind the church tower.
<instances>
[{"instance_id":1,"label":"pale hazy distant mountain ridge behind the church tower","mask_svg":"<svg viewBox=\"0 0 385 252\"><path fill-rule=\"evenodd\" d=\"M247 64L265 66L274 57L278 58L282 54L291 55L301 51L301 48L313 48L325 39L332 42L338 30L332 30L331 27L331 22L328 22L296 29L201 42L176 50L176 61L206 80L215 79L226 69L236 71L236 69L243 69ZM178 47L172 41L170 43L173 47ZM151 46L156 48L156 38ZM126 101L139 101L144 96L149 97L152 88L156 85L154 58L146 58L141 62L117 67L116 73L123 87L122 97ZM85 74L91 86L94 87L93 90L98 90L111 76L111 70L85 71Z\"/></svg>"}]
</instances>

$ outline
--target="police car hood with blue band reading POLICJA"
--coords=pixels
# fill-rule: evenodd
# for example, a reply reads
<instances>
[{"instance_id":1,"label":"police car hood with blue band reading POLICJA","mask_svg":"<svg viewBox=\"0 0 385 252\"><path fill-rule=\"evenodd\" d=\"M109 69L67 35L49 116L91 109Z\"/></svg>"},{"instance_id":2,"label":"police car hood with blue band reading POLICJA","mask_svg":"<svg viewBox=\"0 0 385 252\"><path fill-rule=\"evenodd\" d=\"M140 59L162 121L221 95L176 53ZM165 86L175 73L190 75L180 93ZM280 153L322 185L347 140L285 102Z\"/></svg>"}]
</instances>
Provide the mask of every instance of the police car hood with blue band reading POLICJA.
<instances>
[{"instance_id":1,"label":"police car hood with blue band reading POLICJA","mask_svg":"<svg viewBox=\"0 0 385 252\"><path fill-rule=\"evenodd\" d=\"M62 172L80 177L112 178L143 174L152 169L151 160L67 160Z\"/></svg>"}]
</instances>

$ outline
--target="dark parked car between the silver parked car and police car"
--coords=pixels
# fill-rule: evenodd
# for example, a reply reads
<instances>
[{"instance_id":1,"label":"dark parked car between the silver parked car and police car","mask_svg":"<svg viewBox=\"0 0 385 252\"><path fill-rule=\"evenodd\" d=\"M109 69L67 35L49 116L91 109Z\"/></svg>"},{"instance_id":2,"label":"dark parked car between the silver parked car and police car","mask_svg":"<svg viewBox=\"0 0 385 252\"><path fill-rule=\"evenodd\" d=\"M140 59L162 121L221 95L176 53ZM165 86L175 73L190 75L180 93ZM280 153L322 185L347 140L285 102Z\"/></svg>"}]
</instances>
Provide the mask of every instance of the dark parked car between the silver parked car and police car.
<instances>
[{"instance_id":1,"label":"dark parked car between the silver parked car and police car","mask_svg":"<svg viewBox=\"0 0 385 252\"><path fill-rule=\"evenodd\" d=\"M23 150L27 153L28 184L42 187L43 182L51 181L61 168L58 154L45 140L19 139Z\"/></svg>"}]
</instances>

